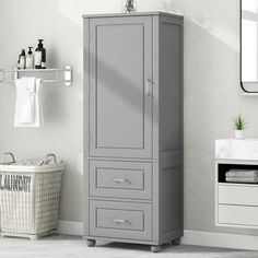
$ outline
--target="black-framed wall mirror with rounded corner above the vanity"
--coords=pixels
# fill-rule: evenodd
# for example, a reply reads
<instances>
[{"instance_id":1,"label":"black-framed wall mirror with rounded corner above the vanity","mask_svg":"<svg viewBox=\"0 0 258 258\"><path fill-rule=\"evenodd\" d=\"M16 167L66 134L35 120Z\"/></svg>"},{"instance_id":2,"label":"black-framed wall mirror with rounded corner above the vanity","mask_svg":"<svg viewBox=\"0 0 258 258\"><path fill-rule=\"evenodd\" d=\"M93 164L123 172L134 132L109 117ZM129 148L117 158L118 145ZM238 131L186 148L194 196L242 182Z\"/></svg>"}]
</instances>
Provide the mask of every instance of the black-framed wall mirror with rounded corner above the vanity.
<instances>
[{"instance_id":1,"label":"black-framed wall mirror with rounded corner above the vanity","mask_svg":"<svg viewBox=\"0 0 258 258\"><path fill-rule=\"evenodd\" d=\"M241 0L241 85L258 93L258 0Z\"/></svg>"}]
</instances>

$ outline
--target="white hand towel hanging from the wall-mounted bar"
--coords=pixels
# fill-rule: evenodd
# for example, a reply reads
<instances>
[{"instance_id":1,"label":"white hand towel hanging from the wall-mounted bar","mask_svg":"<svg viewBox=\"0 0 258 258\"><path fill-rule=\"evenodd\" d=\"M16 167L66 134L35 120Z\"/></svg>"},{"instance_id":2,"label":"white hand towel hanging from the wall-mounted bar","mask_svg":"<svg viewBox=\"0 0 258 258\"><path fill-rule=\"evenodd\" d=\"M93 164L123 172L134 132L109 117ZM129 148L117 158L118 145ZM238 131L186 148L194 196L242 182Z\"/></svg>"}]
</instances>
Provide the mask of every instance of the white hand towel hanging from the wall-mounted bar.
<instances>
[{"instance_id":1,"label":"white hand towel hanging from the wall-mounted bar","mask_svg":"<svg viewBox=\"0 0 258 258\"><path fill-rule=\"evenodd\" d=\"M16 80L15 127L39 127L43 124L40 84L42 80L36 78Z\"/></svg>"}]
</instances>

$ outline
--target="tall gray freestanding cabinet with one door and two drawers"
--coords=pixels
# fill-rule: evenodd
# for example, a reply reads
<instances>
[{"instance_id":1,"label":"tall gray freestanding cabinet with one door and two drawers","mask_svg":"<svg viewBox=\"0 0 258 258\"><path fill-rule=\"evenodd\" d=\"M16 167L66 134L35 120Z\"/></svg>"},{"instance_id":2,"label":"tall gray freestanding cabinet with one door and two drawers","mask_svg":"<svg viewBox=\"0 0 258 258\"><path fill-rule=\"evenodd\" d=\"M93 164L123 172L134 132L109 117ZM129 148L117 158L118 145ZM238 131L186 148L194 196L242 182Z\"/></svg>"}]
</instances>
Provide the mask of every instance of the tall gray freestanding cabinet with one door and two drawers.
<instances>
[{"instance_id":1,"label":"tall gray freestanding cabinet with one door and two drawers","mask_svg":"<svg viewBox=\"0 0 258 258\"><path fill-rule=\"evenodd\" d=\"M84 237L183 236L183 17L84 15Z\"/></svg>"}]
</instances>

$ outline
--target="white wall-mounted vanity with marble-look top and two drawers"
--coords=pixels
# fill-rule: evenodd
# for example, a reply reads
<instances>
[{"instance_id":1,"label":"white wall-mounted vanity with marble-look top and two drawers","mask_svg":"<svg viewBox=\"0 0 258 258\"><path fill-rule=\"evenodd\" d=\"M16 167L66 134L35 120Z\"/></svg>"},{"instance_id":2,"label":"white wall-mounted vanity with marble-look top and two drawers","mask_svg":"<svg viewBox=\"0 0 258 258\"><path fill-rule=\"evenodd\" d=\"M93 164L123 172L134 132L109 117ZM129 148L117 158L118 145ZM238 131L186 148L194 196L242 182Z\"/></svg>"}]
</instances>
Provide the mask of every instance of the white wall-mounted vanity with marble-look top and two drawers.
<instances>
[{"instance_id":1,"label":"white wall-mounted vanity with marble-look top and two drawers","mask_svg":"<svg viewBox=\"0 0 258 258\"><path fill-rule=\"evenodd\" d=\"M258 139L215 141L215 225L258 228L258 184L227 183L231 169L258 169Z\"/></svg>"}]
</instances>

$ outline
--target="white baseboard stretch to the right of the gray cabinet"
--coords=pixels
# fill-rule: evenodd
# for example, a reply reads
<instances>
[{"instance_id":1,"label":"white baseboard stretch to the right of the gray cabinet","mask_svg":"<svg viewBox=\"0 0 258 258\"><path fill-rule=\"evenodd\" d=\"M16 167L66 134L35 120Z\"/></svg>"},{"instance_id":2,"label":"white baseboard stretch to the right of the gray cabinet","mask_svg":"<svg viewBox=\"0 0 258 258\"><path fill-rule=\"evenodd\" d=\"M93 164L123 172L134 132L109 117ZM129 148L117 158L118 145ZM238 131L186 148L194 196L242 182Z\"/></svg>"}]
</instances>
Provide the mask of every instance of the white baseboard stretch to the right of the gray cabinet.
<instances>
[{"instance_id":1,"label":"white baseboard stretch to the right of the gray cabinet","mask_svg":"<svg viewBox=\"0 0 258 258\"><path fill-rule=\"evenodd\" d=\"M258 250L258 236L185 230L181 244Z\"/></svg>"}]
</instances>

